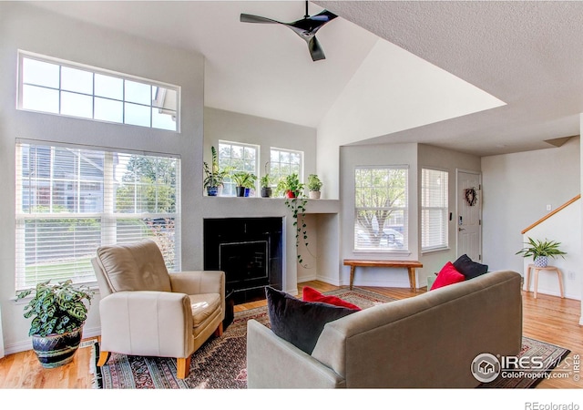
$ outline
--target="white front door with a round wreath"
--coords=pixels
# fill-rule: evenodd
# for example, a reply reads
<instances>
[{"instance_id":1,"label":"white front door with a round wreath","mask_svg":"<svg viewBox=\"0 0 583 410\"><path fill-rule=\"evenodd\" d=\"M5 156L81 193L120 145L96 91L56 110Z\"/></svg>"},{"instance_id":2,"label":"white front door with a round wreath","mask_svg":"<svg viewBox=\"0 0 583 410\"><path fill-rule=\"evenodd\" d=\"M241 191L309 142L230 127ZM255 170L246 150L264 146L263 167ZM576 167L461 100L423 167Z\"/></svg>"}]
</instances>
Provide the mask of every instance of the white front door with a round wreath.
<instances>
[{"instance_id":1,"label":"white front door with a round wreath","mask_svg":"<svg viewBox=\"0 0 583 410\"><path fill-rule=\"evenodd\" d=\"M482 261L482 177L457 169L457 256Z\"/></svg>"}]
</instances>

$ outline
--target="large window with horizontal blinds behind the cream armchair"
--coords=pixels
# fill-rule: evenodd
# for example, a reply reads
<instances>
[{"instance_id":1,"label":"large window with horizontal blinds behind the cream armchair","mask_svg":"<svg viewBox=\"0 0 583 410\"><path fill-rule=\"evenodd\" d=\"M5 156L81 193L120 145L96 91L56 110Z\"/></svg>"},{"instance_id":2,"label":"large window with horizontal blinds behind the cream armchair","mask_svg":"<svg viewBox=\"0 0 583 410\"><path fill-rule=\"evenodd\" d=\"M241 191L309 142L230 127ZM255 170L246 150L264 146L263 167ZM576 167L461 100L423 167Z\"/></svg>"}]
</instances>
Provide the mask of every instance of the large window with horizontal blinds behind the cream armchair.
<instances>
[{"instance_id":1,"label":"large window with horizontal blinds behind the cream armchair","mask_svg":"<svg viewBox=\"0 0 583 410\"><path fill-rule=\"evenodd\" d=\"M95 282L103 244L151 238L179 270L179 159L18 142L16 291Z\"/></svg>"}]
</instances>

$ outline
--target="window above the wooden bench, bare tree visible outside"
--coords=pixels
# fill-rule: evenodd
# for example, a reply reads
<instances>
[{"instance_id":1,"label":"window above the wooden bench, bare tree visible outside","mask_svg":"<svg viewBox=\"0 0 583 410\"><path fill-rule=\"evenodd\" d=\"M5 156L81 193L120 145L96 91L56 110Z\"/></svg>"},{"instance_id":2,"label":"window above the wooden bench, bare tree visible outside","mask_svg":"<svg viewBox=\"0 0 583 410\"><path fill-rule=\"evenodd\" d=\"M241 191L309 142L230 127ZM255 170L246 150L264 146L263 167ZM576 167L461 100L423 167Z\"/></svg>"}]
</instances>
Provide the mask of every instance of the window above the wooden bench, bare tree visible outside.
<instances>
[{"instance_id":1,"label":"window above the wooden bench, bare tree visible outside","mask_svg":"<svg viewBox=\"0 0 583 410\"><path fill-rule=\"evenodd\" d=\"M404 167L358 167L354 172L354 250L407 250Z\"/></svg>"}]
</instances>

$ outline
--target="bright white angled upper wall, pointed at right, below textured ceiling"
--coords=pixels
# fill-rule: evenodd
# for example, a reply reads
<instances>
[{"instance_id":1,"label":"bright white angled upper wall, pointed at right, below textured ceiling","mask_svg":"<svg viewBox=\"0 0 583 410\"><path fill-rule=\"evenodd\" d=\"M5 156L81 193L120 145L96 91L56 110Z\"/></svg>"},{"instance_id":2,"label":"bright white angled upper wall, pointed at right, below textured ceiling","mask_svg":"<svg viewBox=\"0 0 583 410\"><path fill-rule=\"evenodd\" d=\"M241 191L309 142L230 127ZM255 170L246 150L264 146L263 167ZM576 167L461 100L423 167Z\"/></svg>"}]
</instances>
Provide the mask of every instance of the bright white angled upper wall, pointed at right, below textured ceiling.
<instances>
[{"instance_id":1,"label":"bright white angled upper wall, pointed at right, below textured ceiling","mask_svg":"<svg viewBox=\"0 0 583 410\"><path fill-rule=\"evenodd\" d=\"M504 104L379 39L318 127L318 172L329 186L325 198L338 198L341 189L332 179L339 169L338 147Z\"/></svg>"}]
</instances>

